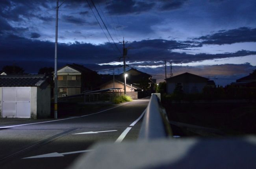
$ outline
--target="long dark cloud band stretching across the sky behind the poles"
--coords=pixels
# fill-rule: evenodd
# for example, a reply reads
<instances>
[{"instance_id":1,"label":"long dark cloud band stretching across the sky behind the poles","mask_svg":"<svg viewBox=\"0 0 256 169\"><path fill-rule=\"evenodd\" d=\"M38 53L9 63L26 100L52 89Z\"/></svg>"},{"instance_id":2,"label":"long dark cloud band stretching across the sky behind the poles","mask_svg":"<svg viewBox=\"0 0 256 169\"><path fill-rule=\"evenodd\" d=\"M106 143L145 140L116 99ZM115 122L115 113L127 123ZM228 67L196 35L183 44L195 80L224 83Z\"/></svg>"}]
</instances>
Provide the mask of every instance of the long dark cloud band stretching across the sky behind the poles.
<instances>
[{"instance_id":1,"label":"long dark cloud band stretching across the sky behind the poles","mask_svg":"<svg viewBox=\"0 0 256 169\"><path fill-rule=\"evenodd\" d=\"M0 53L6 60L24 60L26 58L29 61L53 61L54 42L30 40L9 34L1 36L0 43ZM122 48L122 44L117 44L117 46L120 49ZM184 44L174 40L156 39L142 40L139 42L134 41L128 46L128 61L148 61L149 63L167 59L172 60L174 63L189 63L204 61L206 59L256 55L256 51L246 50L240 50L235 53L199 53L196 55L172 52L173 49L187 47L191 47L191 44ZM62 62L71 61L97 64L119 61L117 58L120 57L117 51L113 51L110 43L93 45L80 42L58 44L58 55L60 56L59 60Z\"/></svg>"}]
</instances>

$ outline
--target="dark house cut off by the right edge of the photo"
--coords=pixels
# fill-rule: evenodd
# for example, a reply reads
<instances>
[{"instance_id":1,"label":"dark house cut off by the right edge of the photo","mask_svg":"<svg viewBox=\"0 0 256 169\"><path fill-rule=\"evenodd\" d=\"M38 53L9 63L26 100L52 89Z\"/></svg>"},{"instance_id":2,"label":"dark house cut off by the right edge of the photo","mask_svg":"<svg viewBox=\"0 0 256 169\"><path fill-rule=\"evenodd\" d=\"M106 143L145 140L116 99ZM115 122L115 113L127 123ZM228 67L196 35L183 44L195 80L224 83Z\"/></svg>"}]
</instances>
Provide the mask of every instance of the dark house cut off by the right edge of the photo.
<instances>
[{"instance_id":1,"label":"dark house cut off by the right edge of the photo","mask_svg":"<svg viewBox=\"0 0 256 169\"><path fill-rule=\"evenodd\" d=\"M256 87L256 73L250 73L250 75L237 79L235 83L230 85L236 87Z\"/></svg>"}]
</instances>

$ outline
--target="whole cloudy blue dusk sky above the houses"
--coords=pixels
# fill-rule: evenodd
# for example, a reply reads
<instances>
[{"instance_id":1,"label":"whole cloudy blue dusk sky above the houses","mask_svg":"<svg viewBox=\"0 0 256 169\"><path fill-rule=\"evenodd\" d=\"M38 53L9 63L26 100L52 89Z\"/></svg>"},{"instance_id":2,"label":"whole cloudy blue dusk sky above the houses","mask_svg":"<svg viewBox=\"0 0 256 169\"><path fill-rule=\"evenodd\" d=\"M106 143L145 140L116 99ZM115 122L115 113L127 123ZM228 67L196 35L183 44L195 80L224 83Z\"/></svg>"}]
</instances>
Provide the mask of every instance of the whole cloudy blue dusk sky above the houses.
<instances>
[{"instance_id":1,"label":"whole cloudy blue dusk sky above the houses","mask_svg":"<svg viewBox=\"0 0 256 169\"><path fill-rule=\"evenodd\" d=\"M91 8L86 0L59 7L58 67L77 63L122 73L124 37L130 42L127 69L149 73L158 83L165 59L167 77L172 62L173 75L194 73L217 85L256 69L255 0L93 0L98 11L88 2ZM0 0L0 70L54 67L55 19L56 0Z\"/></svg>"}]
</instances>

